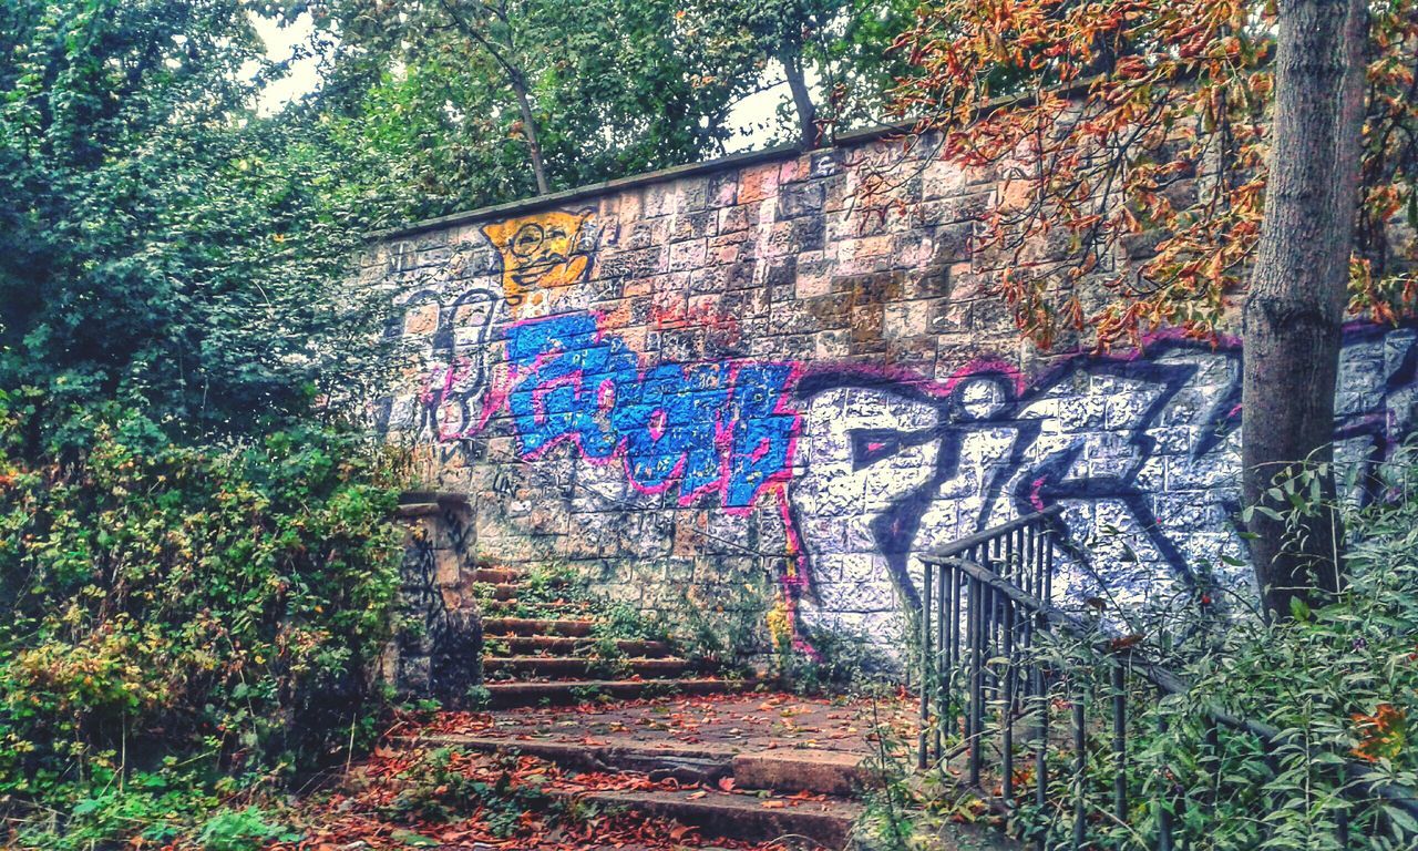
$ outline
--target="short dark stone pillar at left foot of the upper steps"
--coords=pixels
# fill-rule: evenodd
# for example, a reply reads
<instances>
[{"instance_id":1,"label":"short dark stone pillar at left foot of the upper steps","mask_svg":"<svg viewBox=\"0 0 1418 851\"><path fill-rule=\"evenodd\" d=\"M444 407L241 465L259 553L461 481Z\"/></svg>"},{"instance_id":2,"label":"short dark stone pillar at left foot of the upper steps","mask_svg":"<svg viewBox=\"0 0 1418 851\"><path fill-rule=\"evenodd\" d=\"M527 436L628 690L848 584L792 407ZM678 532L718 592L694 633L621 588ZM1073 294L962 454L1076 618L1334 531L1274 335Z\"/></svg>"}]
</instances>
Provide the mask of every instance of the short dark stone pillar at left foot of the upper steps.
<instances>
[{"instance_id":1,"label":"short dark stone pillar at left foot of the upper steps","mask_svg":"<svg viewBox=\"0 0 1418 851\"><path fill-rule=\"evenodd\" d=\"M410 491L400 623L383 665L398 694L457 705L482 682L482 617L472 594L475 523L465 494Z\"/></svg>"}]
</instances>

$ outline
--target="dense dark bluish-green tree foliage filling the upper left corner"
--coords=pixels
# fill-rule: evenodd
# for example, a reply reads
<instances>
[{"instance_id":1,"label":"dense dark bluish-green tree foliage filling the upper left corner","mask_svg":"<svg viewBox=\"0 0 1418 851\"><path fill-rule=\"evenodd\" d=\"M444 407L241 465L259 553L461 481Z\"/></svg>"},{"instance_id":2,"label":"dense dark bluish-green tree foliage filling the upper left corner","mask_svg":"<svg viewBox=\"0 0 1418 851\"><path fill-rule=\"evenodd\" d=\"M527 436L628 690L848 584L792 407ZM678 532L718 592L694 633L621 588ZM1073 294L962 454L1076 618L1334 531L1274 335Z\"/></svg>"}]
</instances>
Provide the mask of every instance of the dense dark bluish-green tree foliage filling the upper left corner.
<instances>
[{"instance_id":1,"label":"dense dark bluish-green tree foliage filling the upper left corner","mask_svg":"<svg viewBox=\"0 0 1418 851\"><path fill-rule=\"evenodd\" d=\"M201 434L359 386L369 157L254 116L242 3L26 0L0 38L0 387Z\"/></svg>"}]
</instances>

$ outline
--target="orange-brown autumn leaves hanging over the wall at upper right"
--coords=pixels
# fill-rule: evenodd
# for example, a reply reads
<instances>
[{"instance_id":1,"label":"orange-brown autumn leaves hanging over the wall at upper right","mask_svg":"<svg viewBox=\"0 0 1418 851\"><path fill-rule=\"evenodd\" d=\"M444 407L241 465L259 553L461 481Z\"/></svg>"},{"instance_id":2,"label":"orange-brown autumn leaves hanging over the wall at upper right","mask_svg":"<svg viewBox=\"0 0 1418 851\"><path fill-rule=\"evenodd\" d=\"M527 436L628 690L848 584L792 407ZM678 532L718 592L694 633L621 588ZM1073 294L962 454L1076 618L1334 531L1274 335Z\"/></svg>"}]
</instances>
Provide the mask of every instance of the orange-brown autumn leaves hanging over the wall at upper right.
<instances>
[{"instance_id":1,"label":"orange-brown autumn leaves hanging over the wall at upper right","mask_svg":"<svg viewBox=\"0 0 1418 851\"><path fill-rule=\"evenodd\" d=\"M1028 338L1215 333L1261 231L1273 16L1239 0L942 0L896 40L912 71L892 106L913 143L1004 182L977 247ZM1350 311L1392 321L1418 295L1418 7L1374 7L1370 33Z\"/></svg>"}]
</instances>

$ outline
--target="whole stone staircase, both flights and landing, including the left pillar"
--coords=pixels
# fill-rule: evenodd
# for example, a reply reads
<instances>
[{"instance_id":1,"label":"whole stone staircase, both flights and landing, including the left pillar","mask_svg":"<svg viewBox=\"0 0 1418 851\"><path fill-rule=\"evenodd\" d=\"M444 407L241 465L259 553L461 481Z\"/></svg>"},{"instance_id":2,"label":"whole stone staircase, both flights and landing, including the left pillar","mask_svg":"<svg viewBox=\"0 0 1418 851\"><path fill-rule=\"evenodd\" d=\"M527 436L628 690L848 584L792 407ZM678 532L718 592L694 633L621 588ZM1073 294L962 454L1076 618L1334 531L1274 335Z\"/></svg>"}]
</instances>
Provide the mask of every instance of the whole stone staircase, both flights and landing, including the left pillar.
<instances>
[{"instance_id":1,"label":"whole stone staircase, both flights and landing, including the left pillar","mask_svg":"<svg viewBox=\"0 0 1418 851\"><path fill-rule=\"evenodd\" d=\"M567 811L668 825L674 847L682 837L702 848L871 847L864 793L881 784L868 763L882 750L872 729L881 723L895 730L891 740L913 742L915 699L873 701L868 712L729 677L659 625L597 599L570 572L474 562L461 495L411 494L400 511L411 525L404 593L423 628L391 644L389 668L406 691L440 696L450 711L403 726L387 739L393 749L376 749L352 772L347 793L369 796L350 810L352 824L376 833L389 818L397 824L386 808L406 784L420 793L418 760L461 753L459 766L498 789L516 776L515 763L527 783L539 779L539 791L566 799ZM467 804L467 820L450 830L486 834L484 801ZM974 828L947 825L940 838L949 851L1017 851ZM581 847L640 851L637 841ZM441 842L447 851L543 848Z\"/></svg>"}]
</instances>

